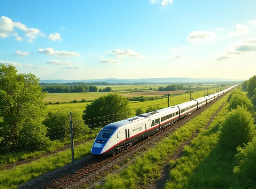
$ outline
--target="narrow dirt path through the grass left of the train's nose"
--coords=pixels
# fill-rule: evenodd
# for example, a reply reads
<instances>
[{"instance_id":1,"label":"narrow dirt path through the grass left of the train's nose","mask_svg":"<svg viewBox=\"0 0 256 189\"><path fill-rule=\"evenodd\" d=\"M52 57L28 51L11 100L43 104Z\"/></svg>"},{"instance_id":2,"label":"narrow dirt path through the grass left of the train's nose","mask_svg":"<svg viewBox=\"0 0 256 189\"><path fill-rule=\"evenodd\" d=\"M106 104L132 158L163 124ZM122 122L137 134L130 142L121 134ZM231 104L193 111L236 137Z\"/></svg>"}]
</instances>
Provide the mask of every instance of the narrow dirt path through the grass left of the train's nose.
<instances>
[{"instance_id":1,"label":"narrow dirt path through the grass left of the train's nose","mask_svg":"<svg viewBox=\"0 0 256 189\"><path fill-rule=\"evenodd\" d=\"M88 141L92 141L92 140L94 140L94 139L88 139L88 140L76 142L76 143L74 143L74 146L78 146L78 145L80 145L80 144L84 144L84 143L86 143L86 142L88 142ZM44 154L41 154L41 155L39 155L39 156L37 156L37 157L25 159L25 160L22 160L22 161L17 161L17 162L14 162L14 163L2 164L2 165L0 166L0 171L1 171L1 170L10 170L10 169L13 169L14 167L16 167L16 166L18 166L18 165L23 165L23 164L27 164L27 163L33 162L33 161L38 160L38 159L40 159L40 158L42 158L42 157L46 157L46 156L49 156L49 155L52 155L52 154L56 154L56 153L58 153L58 152L61 152L61 151L66 150L66 149L68 149L68 148L70 148L70 144L65 144L64 147L59 148L59 149L57 149L57 150L54 151L54 152L44 153Z\"/></svg>"}]
</instances>

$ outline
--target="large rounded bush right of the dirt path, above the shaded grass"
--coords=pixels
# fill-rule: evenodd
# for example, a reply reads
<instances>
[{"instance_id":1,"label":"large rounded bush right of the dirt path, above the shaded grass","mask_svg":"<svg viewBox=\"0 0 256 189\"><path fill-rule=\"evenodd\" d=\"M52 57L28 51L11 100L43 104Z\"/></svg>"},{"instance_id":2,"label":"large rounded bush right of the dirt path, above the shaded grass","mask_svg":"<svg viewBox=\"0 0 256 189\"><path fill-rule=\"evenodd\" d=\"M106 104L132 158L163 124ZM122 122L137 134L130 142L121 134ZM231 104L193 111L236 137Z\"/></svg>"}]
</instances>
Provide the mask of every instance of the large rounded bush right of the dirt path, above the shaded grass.
<instances>
[{"instance_id":1,"label":"large rounded bush right of the dirt path, above the shaded grass","mask_svg":"<svg viewBox=\"0 0 256 189\"><path fill-rule=\"evenodd\" d=\"M253 122L252 114L245 108L238 106L237 109L232 109L220 125L220 144L227 150L243 147L252 139Z\"/></svg>"}]
</instances>

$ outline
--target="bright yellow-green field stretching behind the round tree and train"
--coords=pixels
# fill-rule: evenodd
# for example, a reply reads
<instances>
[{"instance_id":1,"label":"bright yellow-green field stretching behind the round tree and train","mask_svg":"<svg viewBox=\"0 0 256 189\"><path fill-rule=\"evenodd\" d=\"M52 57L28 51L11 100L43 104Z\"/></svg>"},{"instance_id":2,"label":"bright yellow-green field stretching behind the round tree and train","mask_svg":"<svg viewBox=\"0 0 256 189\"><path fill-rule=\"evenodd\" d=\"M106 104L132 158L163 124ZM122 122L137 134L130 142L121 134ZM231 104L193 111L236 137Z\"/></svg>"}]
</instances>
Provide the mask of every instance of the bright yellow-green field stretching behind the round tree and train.
<instances>
[{"instance_id":1,"label":"bright yellow-green field stretching behind the round tree and train","mask_svg":"<svg viewBox=\"0 0 256 189\"><path fill-rule=\"evenodd\" d=\"M216 91L216 89L214 89L214 92L215 91ZM208 90L208 93L209 92L212 92L212 91ZM206 95L207 91L205 90L205 91L195 92L195 93L192 93L192 97L194 99L200 98L200 97L204 96L204 93ZM68 93L68 94L72 94L72 93ZM86 93L83 93L83 94L86 94ZM102 93L99 93L99 94L102 94ZM58 95L61 95L61 93ZM67 93L66 93L66 95L67 95ZM106 95L106 93L103 93L103 95ZM179 96L173 96L173 97L170 97L170 106L177 105L177 104L187 102L187 101L190 101L190 94L182 94ZM82 114L86 107L86 104L88 104L88 103L90 103L90 102L52 104L52 105L47 106L46 110L47 111L57 111L57 110L69 110L69 111L73 110L74 111L75 110L75 111L79 111ZM146 102L130 101L129 106L131 108L131 112L132 112L132 116L133 116L135 114L136 108L141 107L145 111L148 107L151 107L151 106L158 106L160 108L168 107L168 98L163 98L163 99L154 100L154 101L146 101Z\"/></svg>"}]
</instances>

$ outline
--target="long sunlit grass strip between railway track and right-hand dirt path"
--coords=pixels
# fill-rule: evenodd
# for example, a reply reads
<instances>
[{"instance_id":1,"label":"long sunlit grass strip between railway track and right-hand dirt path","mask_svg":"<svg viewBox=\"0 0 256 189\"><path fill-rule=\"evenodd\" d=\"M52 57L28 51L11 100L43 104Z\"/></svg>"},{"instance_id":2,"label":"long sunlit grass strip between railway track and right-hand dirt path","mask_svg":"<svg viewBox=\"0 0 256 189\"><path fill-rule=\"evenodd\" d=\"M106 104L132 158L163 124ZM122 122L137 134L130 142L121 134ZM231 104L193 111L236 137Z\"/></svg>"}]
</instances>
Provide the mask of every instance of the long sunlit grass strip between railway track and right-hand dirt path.
<instances>
[{"instance_id":1,"label":"long sunlit grass strip between railway track and right-hand dirt path","mask_svg":"<svg viewBox=\"0 0 256 189\"><path fill-rule=\"evenodd\" d=\"M190 120L187 124L177 129L169 137L159 142L150 151L137 158L134 163L122 170L118 175L109 176L105 183L98 188L136 188L139 184L146 184L148 179L160 176L159 165L165 163L168 155L172 155L175 150L186 140L188 140L196 130L204 131L204 126L209 122L212 114L216 112L222 102L227 100L227 96L211 105L207 110Z\"/></svg>"}]
</instances>

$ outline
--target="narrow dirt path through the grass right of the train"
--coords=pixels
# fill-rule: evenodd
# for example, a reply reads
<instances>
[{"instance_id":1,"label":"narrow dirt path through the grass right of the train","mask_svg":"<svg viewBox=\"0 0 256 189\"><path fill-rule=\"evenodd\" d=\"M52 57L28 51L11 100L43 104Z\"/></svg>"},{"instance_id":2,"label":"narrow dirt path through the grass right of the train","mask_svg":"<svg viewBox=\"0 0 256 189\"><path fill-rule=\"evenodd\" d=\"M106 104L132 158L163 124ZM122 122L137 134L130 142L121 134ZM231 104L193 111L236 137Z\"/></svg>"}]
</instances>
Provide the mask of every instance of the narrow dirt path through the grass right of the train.
<instances>
[{"instance_id":1,"label":"narrow dirt path through the grass right of the train","mask_svg":"<svg viewBox=\"0 0 256 189\"><path fill-rule=\"evenodd\" d=\"M207 129L209 127L209 125L212 123L213 118L220 112L220 110L223 108L224 104L225 104L225 102L223 102L222 105L220 106L220 108L211 116L209 122L205 125L204 129ZM178 158L180 158L182 156L184 146L189 145L191 143L191 141L195 137L197 137L198 133L199 132L196 131L189 140L182 143L180 145L180 147L178 148L178 150L166 160L166 163L164 165L162 165L162 167L161 167L162 173L161 173L159 179L156 179L153 183L148 183L147 185L142 185L142 186L140 186L140 188L147 188L147 189L162 189L162 188L164 188L165 183L170 178L169 173L170 173L171 167L169 166L168 163L171 160L177 160Z\"/></svg>"}]
</instances>

